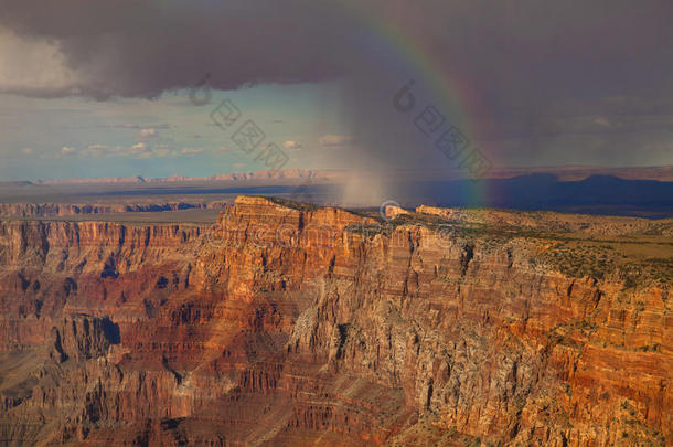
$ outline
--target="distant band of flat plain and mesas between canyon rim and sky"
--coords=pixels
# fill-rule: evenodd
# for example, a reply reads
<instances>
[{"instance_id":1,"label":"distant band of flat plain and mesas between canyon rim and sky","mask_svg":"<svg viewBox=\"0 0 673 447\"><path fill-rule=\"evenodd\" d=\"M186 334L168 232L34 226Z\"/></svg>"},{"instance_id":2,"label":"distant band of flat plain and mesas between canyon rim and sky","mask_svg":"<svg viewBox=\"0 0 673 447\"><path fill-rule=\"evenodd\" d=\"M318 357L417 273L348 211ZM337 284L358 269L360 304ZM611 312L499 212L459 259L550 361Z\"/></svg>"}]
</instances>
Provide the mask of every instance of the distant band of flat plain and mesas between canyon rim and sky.
<instances>
[{"instance_id":1,"label":"distant band of flat plain and mesas between canyon rim and sky","mask_svg":"<svg viewBox=\"0 0 673 447\"><path fill-rule=\"evenodd\" d=\"M207 209L217 207L236 195L249 194L346 207L377 207L384 201L393 201L402 206L420 202L437 206L673 217L671 167L502 169L492 171L489 178L481 180L466 178L456 171L380 172L378 175L383 177L380 180L386 183L385 188L375 191L377 195L371 196L367 195L368 187L365 185L352 191L357 178L366 180L367 175L353 173L351 179L351 174L343 170L295 169L211 177L116 177L35 183L7 182L0 184L0 203L7 203L7 210L0 214L53 214L56 212L51 210L54 204L58 205L57 214L70 214L67 210L72 204L77 205L81 210L78 212L84 212L82 210L87 210L87 205L92 204L97 205L97 212L105 212L103 210L107 210L105 206L110 203L122 210L127 210L128 205L132 210L145 210L148 203L157 209L180 203L181 206ZM375 174L372 173L371 177L374 178ZM15 204L23 202L42 204L42 211L15 210ZM136 206L136 202L142 203Z\"/></svg>"}]
</instances>

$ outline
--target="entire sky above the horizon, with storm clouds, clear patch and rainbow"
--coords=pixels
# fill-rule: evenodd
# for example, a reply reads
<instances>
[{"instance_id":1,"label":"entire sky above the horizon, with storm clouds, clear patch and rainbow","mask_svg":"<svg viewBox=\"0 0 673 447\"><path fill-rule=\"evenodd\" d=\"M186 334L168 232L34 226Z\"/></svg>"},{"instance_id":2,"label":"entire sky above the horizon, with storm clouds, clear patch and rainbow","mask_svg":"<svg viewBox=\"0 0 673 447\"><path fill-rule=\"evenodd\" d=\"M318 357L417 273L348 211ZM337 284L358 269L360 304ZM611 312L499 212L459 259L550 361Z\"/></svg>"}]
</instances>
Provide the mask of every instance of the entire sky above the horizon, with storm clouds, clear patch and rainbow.
<instances>
[{"instance_id":1,"label":"entire sky above the horizon, with storm clouds, clear patch and rainbow","mask_svg":"<svg viewBox=\"0 0 673 447\"><path fill-rule=\"evenodd\" d=\"M671 23L670 0L0 0L0 181L265 169L247 120L284 168L452 169L449 128L496 167L672 164Z\"/></svg>"}]
</instances>

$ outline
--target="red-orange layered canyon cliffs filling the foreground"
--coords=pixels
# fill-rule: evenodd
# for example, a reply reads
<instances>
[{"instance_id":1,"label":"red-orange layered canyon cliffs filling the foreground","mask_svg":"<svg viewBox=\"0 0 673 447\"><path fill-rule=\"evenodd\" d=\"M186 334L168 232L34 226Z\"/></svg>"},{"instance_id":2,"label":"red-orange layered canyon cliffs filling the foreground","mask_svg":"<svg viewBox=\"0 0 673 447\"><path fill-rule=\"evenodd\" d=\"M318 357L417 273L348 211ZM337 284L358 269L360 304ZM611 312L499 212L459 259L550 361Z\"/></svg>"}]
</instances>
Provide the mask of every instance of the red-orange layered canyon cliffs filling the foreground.
<instances>
[{"instance_id":1,"label":"red-orange layered canyon cliffs filling the foreground","mask_svg":"<svg viewBox=\"0 0 673 447\"><path fill-rule=\"evenodd\" d=\"M0 222L0 445L673 443L673 220L222 207Z\"/></svg>"}]
</instances>

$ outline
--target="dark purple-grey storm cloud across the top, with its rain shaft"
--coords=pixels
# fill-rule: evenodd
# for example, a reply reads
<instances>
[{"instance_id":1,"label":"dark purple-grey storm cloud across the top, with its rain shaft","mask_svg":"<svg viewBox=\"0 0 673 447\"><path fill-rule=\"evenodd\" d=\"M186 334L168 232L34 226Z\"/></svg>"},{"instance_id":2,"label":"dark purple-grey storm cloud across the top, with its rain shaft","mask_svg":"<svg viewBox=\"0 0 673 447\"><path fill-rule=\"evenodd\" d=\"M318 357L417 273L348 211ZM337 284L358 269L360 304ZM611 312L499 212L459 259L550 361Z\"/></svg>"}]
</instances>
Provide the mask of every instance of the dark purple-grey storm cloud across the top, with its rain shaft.
<instances>
[{"instance_id":1,"label":"dark purple-grey storm cloud across the top, with its rain shaft","mask_svg":"<svg viewBox=\"0 0 673 447\"><path fill-rule=\"evenodd\" d=\"M0 0L0 26L56 45L67 68L52 84L0 77L0 91L105 99L156 97L205 74L222 89L341 79L352 137L370 148L353 159L365 164L384 151L397 164L439 157L405 150L424 140L391 105L416 78L424 105L460 121L423 85L428 71L456 109L460 95L477 104L480 138L527 138L524 152L567 132L667 129L673 110L671 0Z\"/></svg>"}]
</instances>

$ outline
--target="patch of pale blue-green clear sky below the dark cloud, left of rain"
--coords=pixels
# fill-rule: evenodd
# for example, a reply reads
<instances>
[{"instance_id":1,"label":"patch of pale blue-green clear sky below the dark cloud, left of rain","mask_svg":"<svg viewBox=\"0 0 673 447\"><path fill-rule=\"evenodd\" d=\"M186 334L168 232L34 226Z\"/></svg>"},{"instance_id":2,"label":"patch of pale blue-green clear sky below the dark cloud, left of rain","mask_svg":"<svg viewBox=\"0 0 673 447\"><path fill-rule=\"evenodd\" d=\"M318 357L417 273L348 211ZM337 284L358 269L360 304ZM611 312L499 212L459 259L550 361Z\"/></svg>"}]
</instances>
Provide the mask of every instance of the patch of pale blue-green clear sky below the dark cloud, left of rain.
<instances>
[{"instance_id":1,"label":"patch of pale blue-green clear sky below the dark cloud, left of rain","mask_svg":"<svg viewBox=\"0 0 673 447\"><path fill-rule=\"evenodd\" d=\"M199 81L199 79L196 79ZM215 125L211 113L223 100L252 119L269 142L291 157L287 167L316 166L316 152L339 150L325 136L346 131L338 88L324 84L264 85L211 91L210 102L191 100L190 91L157 99L79 97L34 98L6 94L0 106L1 173L11 180L142 175L211 175L265 169L256 155L241 150ZM323 107L322 104L332 104ZM282 104L291 106L281 107ZM6 113L7 111L7 113ZM332 141L334 142L334 141ZM293 159L293 160L292 160Z\"/></svg>"}]
</instances>

